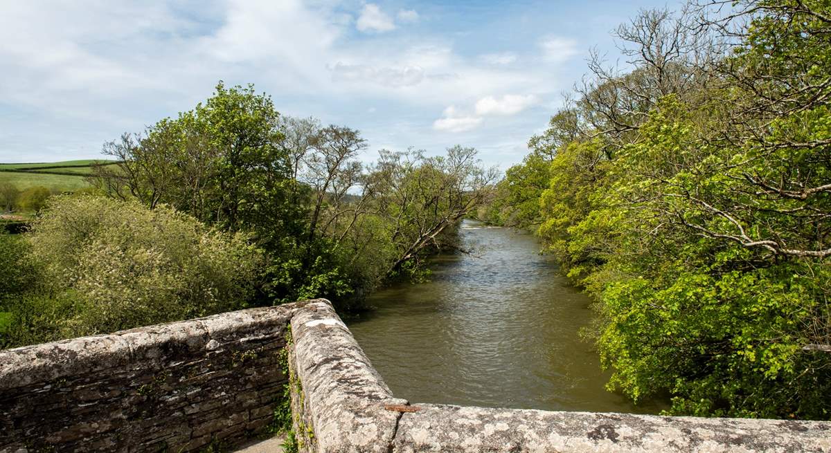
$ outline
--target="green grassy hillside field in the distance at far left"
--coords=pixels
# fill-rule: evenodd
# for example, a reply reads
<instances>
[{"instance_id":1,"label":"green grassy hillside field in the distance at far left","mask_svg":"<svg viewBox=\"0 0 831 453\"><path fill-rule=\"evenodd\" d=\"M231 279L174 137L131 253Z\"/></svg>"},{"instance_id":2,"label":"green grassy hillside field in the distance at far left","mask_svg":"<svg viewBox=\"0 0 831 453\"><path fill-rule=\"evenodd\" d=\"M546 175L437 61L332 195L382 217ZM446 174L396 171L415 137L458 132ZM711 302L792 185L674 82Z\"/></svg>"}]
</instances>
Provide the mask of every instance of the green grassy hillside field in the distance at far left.
<instances>
[{"instance_id":1,"label":"green grassy hillside field in the distance at far left","mask_svg":"<svg viewBox=\"0 0 831 453\"><path fill-rule=\"evenodd\" d=\"M112 161L86 159L62 162L0 163L0 183L12 183L20 190L43 186L53 192L72 192L90 187L84 177L92 173L92 165L107 162Z\"/></svg>"}]
</instances>

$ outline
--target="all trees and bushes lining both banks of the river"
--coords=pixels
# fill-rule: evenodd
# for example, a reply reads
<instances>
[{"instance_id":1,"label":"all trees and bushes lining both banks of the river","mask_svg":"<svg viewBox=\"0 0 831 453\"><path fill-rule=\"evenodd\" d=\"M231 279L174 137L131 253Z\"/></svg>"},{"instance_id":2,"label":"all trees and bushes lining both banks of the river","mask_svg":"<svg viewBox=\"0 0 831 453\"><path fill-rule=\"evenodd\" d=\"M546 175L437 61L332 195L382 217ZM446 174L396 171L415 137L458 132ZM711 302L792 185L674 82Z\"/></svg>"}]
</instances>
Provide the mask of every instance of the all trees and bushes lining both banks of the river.
<instances>
[{"instance_id":1,"label":"all trees and bushes lining both banks of the river","mask_svg":"<svg viewBox=\"0 0 831 453\"><path fill-rule=\"evenodd\" d=\"M253 86L125 134L96 191L0 236L8 347L328 297L355 309L458 248L533 228L596 301L610 389L672 414L829 419L831 5L690 4L616 31L498 181L475 149L367 147Z\"/></svg>"}]
</instances>

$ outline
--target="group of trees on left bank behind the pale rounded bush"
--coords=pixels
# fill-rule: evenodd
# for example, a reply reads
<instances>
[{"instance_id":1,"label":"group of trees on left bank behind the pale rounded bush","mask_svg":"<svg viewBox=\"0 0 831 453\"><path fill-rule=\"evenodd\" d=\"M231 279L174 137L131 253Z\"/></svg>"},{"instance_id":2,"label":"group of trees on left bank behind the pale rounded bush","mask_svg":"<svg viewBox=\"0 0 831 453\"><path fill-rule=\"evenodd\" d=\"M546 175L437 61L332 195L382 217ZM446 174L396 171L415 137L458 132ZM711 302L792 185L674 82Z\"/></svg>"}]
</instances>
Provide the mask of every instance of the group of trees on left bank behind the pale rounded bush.
<instances>
[{"instance_id":1,"label":"group of trees on left bank behind the pale rounded bush","mask_svg":"<svg viewBox=\"0 0 831 453\"><path fill-rule=\"evenodd\" d=\"M474 149L382 152L375 167L358 161L364 149L354 129L280 116L253 86L220 82L204 105L106 144L120 163L97 167L91 182L250 233L267 254L257 304L328 297L348 308L451 245L445 233L492 178Z\"/></svg>"}]
</instances>

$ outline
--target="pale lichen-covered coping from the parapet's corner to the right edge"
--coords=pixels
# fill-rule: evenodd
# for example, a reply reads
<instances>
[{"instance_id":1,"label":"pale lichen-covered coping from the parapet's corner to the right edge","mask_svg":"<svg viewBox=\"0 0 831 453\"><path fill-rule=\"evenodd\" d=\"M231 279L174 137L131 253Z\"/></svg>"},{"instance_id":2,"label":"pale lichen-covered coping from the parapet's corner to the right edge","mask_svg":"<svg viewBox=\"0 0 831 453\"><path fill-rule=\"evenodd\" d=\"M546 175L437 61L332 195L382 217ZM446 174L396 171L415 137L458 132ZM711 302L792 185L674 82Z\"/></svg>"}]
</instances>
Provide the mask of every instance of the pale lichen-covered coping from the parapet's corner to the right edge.
<instances>
[{"instance_id":1,"label":"pale lichen-covered coping from the parapet's corner to the right edge","mask_svg":"<svg viewBox=\"0 0 831 453\"><path fill-rule=\"evenodd\" d=\"M304 393L295 415L314 433L306 451L831 451L826 421L408 405L392 396L327 301L307 304L291 324Z\"/></svg>"}]
</instances>

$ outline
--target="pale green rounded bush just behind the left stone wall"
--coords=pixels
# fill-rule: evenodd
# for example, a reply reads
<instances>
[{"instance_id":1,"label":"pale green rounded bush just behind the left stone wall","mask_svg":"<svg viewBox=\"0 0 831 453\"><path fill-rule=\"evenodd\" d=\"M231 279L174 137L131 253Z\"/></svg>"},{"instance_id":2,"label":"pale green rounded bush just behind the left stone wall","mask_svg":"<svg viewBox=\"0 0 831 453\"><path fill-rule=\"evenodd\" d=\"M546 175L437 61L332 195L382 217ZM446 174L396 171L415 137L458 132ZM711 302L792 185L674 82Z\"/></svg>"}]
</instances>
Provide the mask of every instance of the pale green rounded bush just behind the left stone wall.
<instances>
[{"instance_id":1,"label":"pale green rounded bush just behind the left stone wall","mask_svg":"<svg viewBox=\"0 0 831 453\"><path fill-rule=\"evenodd\" d=\"M260 253L169 207L57 196L32 224L37 290L11 304L7 343L100 334L245 306Z\"/></svg>"}]
</instances>

